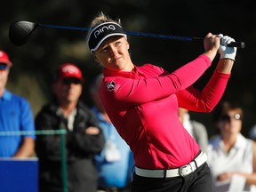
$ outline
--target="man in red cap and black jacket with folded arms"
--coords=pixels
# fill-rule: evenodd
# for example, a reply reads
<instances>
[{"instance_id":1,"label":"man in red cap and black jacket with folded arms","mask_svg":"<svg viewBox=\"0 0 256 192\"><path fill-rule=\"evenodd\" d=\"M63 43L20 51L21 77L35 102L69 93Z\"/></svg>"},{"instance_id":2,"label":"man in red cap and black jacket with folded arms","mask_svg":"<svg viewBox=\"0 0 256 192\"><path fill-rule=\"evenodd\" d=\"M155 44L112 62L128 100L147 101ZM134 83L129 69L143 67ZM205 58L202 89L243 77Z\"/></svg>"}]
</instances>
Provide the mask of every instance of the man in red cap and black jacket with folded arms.
<instances>
[{"instance_id":1,"label":"man in red cap and black jacket with folded arms","mask_svg":"<svg viewBox=\"0 0 256 192\"><path fill-rule=\"evenodd\" d=\"M98 172L93 156L104 147L104 136L96 116L81 102L84 78L76 65L65 63L53 76L53 100L36 116L36 130L64 127L68 170L68 192L95 192ZM62 127L63 126L63 127ZM60 136L38 135L40 192L62 192Z\"/></svg>"}]
</instances>

